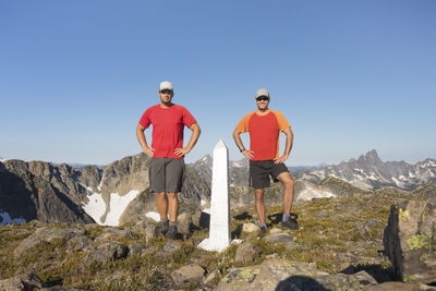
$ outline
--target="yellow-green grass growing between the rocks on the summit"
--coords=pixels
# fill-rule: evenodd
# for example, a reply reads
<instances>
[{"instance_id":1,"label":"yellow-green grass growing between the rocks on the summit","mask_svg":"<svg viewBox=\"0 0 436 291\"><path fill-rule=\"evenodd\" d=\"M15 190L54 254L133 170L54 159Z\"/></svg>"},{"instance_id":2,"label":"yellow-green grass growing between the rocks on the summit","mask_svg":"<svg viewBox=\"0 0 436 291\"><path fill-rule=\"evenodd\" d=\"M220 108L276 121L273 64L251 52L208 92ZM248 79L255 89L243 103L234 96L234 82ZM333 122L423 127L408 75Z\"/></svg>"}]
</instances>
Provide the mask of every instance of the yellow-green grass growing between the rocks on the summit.
<instances>
[{"instance_id":1,"label":"yellow-green grass growing between the rocks on the summit","mask_svg":"<svg viewBox=\"0 0 436 291\"><path fill-rule=\"evenodd\" d=\"M383 231L390 205L398 198L408 197L399 194L362 194L298 204L292 211L299 215L301 230L291 233L295 237L295 243L290 248L256 240L254 234L238 233L239 225L255 220L254 207L232 211L231 228L233 234L256 244L262 251L259 258L251 265L259 264L266 255L277 253L290 260L314 262L320 270L331 274L350 268L383 272L390 266L380 254L384 248ZM270 227L279 227L280 207L267 207L267 211ZM197 248L196 245L208 237L208 230L197 230L185 241L179 241L182 247L171 254L162 251L167 240L157 238L148 242L153 251L146 255L129 256L100 265L84 266L81 262L86 252L69 251L60 241L38 244L15 258L14 248L34 229L32 222L0 227L0 279L32 270L50 286L90 290L167 290L175 288L171 271L189 263L199 263L207 272L218 269L221 277L231 268L244 266L234 262L237 245L231 245L221 254ZM94 239L101 232L101 227L93 227L86 233ZM129 245L133 242L143 243L145 238L136 234L122 243ZM192 290L197 287L197 283L186 283L178 288Z\"/></svg>"}]
</instances>

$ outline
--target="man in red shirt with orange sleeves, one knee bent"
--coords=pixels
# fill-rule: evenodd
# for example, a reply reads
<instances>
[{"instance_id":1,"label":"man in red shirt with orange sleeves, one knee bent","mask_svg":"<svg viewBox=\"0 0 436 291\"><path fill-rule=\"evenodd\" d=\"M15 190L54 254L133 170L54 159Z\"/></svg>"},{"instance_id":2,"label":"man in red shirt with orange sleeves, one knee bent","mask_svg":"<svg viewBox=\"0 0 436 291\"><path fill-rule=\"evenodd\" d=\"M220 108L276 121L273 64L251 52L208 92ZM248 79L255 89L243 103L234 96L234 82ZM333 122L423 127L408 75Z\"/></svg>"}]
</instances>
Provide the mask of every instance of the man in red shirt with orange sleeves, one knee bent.
<instances>
[{"instance_id":1,"label":"man in red shirt with orange sleeves, one knee bent","mask_svg":"<svg viewBox=\"0 0 436 291\"><path fill-rule=\"evenodd\" d=\"M296 217L291 218L294 181L284 161L291 153L293 133L291 125L283 114L270 110L269 93L267 89L258 89L255 95L257 110L247 113L237 125L233 138L240 151L250 159L250 185L254 187L255 206L261 221L258 238L266 234L264 189L270 186L270 179L283 184L283 218L282 229L298 230ZM250 132L250 149L245 149L241 133ZM287 136L284 154L279 156L279 134Z\"/></svg>"}]
</instances>

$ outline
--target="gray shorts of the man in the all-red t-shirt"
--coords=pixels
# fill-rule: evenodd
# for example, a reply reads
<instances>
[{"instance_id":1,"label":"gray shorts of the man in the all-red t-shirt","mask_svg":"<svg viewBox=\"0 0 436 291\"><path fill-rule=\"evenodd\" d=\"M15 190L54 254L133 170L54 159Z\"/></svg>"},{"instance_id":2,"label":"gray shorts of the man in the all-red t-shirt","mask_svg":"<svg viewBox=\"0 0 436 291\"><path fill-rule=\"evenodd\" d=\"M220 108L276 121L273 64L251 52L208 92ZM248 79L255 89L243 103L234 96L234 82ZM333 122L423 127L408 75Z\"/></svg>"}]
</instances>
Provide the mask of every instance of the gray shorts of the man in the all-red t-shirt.
<instances>
[{"instance_id":1,"label":"gray shorts of the man in the all-red t-shirt","mask_svg":"<svg viewBox=\"0 0 436 291\"><path fill-rule=\"evenodd\" d=\"M181 192L183 172L183 159L152 158L148 170L150 192Z\"/></svg>"}]
</instances>

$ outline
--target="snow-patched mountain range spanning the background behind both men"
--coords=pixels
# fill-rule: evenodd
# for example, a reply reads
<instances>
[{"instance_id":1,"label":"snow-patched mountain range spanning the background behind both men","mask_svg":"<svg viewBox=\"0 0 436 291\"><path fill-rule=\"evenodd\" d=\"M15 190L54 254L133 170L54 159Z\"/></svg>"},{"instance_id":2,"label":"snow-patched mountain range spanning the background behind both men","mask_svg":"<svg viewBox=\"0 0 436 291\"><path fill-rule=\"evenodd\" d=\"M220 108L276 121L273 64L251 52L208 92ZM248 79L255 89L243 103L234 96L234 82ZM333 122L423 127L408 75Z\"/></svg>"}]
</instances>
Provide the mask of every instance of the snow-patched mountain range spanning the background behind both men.
<instances>
[{"instance_id":1,"label":"snow-patched mountain range spanning the background behind both men","mask_svg":"<svg viewBox=\"0 0 436 291\"><path fill-rule=\"evenodd\" d=\"M106 167L53 165L45 161L0 161L0 225L37 219L48 223L97 222L119 226L147 220L157 211L148 186L149 158L145 154L128 156ZM186 165L180 194L180 211L209 207L213 158L207 155ZM407 191L433 194L436 160L415 165L404 161L383 162L376 150L337 166L315 169L291 168L295 178L294 201L352 195L355 193ZM232 208L254 204L249 186L246 159L229 162L230 203ZM432 182L433 181L433 182ZM281 185L266 191L268 205L281 204Z\"/></svg>"}]
</instances>

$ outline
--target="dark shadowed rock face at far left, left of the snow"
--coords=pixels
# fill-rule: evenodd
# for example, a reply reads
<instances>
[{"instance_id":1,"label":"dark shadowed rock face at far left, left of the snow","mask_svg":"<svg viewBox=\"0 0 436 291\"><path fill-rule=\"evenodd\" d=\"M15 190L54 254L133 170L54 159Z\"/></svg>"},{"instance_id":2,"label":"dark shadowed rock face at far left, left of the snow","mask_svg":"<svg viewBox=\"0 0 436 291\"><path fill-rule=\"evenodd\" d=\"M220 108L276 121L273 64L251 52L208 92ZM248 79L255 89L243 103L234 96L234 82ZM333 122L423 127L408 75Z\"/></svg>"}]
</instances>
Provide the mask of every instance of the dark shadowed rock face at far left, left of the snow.
<instances>
[{"instance_id":1,"label":"dark shadowed rock face at far left, left of the snow","mask_svg":"<svg viewBox=\"0 0 436 291\"><path fill-rule=\"evenodd\" d=\"M86 190L68 165L7 160L0 165L0 209L13 218L48 223L94 222L80 207Z\"/></svg>"}]
</instances>

